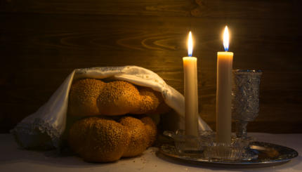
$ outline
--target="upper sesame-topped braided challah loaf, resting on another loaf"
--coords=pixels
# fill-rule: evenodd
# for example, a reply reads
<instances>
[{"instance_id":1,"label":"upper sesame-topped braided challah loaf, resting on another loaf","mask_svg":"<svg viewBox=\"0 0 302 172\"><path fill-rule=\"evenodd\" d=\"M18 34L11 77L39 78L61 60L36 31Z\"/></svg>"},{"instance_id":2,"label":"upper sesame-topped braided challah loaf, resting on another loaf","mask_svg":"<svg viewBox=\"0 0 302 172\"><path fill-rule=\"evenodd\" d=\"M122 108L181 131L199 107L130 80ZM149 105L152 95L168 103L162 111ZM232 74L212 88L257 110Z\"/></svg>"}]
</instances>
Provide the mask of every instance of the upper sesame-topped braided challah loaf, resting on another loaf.
<instances>
[{"instance_id":1,"label":"upper sesame-topped braided challah loaf, resting on another loaf","mask_svg":"<svg viewBox=\"0 0 302 172\"><path fill-rule=\"evenodd\" d=\"M74 116L158 114L168 109L159 92L126 81L81 79L70 88L68 111Z\"/></svg>"}]
</instances>

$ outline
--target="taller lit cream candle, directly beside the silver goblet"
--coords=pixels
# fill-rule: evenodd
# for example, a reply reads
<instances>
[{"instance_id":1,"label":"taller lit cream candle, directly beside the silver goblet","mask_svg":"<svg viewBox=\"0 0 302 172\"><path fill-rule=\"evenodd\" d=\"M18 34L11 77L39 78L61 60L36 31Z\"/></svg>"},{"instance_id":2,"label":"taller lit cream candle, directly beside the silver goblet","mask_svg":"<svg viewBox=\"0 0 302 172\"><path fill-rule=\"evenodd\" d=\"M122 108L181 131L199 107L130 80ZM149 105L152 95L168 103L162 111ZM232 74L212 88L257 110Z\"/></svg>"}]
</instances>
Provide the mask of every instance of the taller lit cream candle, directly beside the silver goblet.
<instances>
[{"instance_id":1,"label":"taller lit cream candle, directly beside the silver goblet","mask_svg":"<svg viewBox=\"0 0 302 172\"><path fill-rule=\"evenodd\" d=\"M223 33L225 52L217 53L216 141L230 144L233 53L228 52L228 44L228 27L225 26Z\"/></svg>"}]
</instances>

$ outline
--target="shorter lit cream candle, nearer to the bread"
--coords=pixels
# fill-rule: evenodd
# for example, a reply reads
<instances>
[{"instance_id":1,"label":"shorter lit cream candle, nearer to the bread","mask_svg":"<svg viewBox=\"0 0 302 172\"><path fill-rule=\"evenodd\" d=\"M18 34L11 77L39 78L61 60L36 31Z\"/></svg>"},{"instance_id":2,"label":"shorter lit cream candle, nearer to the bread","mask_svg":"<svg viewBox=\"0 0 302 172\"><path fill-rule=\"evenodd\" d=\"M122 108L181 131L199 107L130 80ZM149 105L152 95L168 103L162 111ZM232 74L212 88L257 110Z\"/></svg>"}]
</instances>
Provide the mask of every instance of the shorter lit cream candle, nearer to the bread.
<instances>
[{"instance_id":1,"label":"shorter lit cream candle, nearer to the bread","mask_svg":"<svg viewBox=\"0 0 302 172\"><path fill-rule=\"evenodd\" d=\"M183 58L185 77L185 134L198 135L197 58L192 57L192 34L188 38L188 56Z\"/></svg>"}]
</instances>

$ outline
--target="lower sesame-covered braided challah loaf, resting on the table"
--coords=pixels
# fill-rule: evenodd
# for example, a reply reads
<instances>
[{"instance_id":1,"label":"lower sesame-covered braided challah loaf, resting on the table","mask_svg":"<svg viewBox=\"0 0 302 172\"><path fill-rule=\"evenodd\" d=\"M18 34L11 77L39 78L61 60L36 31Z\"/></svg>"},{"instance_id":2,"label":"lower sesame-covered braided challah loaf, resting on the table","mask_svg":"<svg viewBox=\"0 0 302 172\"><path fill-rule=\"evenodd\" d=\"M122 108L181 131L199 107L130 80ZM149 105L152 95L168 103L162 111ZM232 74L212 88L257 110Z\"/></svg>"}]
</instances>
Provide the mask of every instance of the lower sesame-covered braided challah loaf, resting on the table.
<instances>
[{"instance_id":1,"label":"lower sesame-covered braided challah loaf, resting on the table","mask_svg":"<svg viewBox=\"0 0 302 172\"><path fill-rule=\"evenodd\" d=\"M135 157L151 146L157 128L150 117L113 119L89 117L70 128L69 145L85 161L117 161Z\"/></svg>"}]
</instances>

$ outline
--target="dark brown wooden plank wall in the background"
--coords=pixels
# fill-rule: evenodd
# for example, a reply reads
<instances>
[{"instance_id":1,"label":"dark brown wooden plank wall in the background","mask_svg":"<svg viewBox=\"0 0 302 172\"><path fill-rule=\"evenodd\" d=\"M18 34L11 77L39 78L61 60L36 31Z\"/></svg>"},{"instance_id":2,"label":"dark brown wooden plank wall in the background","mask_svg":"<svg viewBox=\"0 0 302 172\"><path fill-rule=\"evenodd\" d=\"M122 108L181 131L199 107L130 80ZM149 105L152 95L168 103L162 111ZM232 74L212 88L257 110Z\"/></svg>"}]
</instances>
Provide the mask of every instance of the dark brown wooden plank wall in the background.
<instances>
[{"instance_id":1,"label":"dark brown wooden plank wall in the background","mask_svg":"<svg viewBox=\"0 0 302 172\"><path fill-rule=\"evenodd\" d=\"M215 128L216 52L228 25L234 69L263 70L249 131L302 132L298 0L0 0L0 132L35 112L74 68L138 65L183 93L192 30L202 118Z\"/></svg>"}]
</instances>

